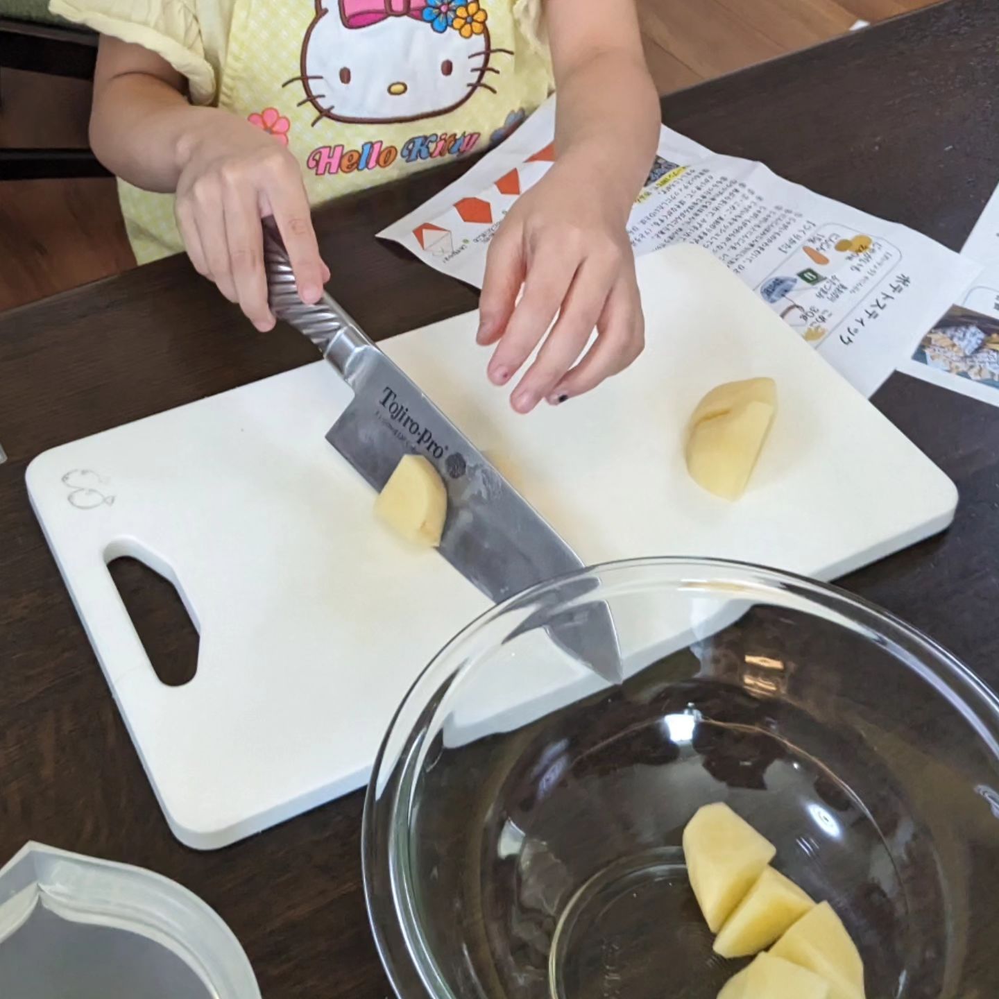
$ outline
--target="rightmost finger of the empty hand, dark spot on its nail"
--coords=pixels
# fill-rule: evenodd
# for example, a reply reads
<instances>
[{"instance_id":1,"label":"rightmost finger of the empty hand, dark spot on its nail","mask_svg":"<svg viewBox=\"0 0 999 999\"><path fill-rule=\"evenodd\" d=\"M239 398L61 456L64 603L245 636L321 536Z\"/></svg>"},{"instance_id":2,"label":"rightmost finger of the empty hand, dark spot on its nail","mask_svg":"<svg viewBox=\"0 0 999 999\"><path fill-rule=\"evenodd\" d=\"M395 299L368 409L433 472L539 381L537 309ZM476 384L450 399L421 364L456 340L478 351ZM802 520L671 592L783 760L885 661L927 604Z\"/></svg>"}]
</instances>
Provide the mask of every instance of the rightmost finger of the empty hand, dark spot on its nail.
<instances>
[{"instance_id":1,"label":"rightmost finger of the empty hand, dark spot on its nail","mask_svg":"<svg viewBox=\"0 0 999 999\"><path fill-rule=\"evenodd\" d=\"M586 356L552 390L549 403L581 396L604 379L622 372L645 346L641 300L633 278L622 278L610 290L596 324L598 336Z\"/></svg>"}]
</instances>

